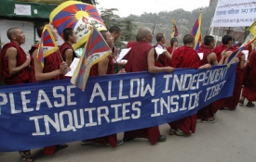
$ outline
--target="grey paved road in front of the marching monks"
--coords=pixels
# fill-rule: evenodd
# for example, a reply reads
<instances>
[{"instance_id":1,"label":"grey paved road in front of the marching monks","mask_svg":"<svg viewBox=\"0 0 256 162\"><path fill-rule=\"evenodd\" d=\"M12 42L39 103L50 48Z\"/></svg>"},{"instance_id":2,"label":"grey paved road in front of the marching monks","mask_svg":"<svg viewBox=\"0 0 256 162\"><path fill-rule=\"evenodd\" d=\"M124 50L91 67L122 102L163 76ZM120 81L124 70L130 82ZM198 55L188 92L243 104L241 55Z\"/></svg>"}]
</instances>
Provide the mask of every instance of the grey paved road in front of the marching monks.
<instances>
[{"instance_id":1,"label":"grey paved road in front of the marching monks","mask_svg":"<svg viewBox=\"0 0 256 162\"><path fill-rule=\"evenodd\" d=\"M255 162L256 107L237 106L222 110L215 123L200 123L191 137L168 135L168 124L160 131L168 139L151 145L137 139L113 148L102 145L82 146L79 142L54 156L44 156L43 149L34 149L35 162ZM122 133L118 134L121 139ZM0 162L21 162L18 152L0 154Z\"/></svg>"}]
</instances>

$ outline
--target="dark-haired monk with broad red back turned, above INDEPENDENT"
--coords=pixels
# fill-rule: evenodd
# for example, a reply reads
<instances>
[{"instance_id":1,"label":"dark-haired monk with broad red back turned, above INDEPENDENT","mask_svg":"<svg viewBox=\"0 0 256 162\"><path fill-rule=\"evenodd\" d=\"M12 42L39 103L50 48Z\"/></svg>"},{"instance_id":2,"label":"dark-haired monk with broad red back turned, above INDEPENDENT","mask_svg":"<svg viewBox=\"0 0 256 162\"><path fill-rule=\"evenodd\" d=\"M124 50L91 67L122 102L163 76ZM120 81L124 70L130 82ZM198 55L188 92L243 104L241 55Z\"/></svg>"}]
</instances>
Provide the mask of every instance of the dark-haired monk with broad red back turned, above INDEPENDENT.
<instances>
[{"instance_id":1,"label":"dark-haired monk with broad red back turned, above INDEPENDENT","mask_svg":"<svg viewBox=\"0 0 256 162\"><path fill-rule=\"evenodd\" d=\"M201 66L199 56L194 50L195 38L191 34L183 37L183 46L173 52L171 65L173 68L189 68L189 69L210 69L210 64ZM169 135L190 136L195 133L196 114L187 118L182 118L168 123L170 126Z\"/></svg>"}]
</instances>

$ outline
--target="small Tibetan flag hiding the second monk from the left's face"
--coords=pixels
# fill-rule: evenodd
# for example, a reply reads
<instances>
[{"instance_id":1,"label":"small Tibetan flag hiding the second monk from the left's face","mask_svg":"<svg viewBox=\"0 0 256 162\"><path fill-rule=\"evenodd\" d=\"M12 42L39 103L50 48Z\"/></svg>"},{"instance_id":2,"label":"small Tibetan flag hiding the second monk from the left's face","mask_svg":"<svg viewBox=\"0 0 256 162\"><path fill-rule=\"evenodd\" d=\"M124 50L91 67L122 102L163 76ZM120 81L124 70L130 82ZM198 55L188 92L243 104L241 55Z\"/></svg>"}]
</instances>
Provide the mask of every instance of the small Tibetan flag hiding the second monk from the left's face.
<instances>
[{"instance_id":1,"label":"small Tibetan flag hiding the second monk from the left's face","mask_svg":"<svg viewBox=\"0 0 256 162\"><path fill-rule=\"evenodd\" d=\"M41 61L41 65L44 68L44 58L56 51L58 51L58 45L55 42L54 36L48 25L44 27L41 35L41 40L38 43L37 58Z\"/></svg>"}]
</instances>

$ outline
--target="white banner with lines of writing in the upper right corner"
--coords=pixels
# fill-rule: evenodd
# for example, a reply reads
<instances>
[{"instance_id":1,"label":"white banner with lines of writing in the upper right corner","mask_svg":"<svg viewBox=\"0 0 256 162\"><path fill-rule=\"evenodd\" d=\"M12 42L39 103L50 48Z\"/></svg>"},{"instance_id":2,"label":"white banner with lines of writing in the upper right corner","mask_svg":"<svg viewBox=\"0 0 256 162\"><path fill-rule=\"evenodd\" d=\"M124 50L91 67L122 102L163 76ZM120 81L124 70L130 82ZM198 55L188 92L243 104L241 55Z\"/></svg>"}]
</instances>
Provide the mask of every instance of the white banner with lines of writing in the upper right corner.
<instances>
[{"instance_id":1,"label":"white banner with lines of writing in the upper right corner","mask_svg":"<svg viewBox=\"0 0 256 162\"><path fill-rule=\"evenodd\" d=\"M219 0L211 27L250 26L256 20L256 1Z\"/></svg>"}]
</instances>

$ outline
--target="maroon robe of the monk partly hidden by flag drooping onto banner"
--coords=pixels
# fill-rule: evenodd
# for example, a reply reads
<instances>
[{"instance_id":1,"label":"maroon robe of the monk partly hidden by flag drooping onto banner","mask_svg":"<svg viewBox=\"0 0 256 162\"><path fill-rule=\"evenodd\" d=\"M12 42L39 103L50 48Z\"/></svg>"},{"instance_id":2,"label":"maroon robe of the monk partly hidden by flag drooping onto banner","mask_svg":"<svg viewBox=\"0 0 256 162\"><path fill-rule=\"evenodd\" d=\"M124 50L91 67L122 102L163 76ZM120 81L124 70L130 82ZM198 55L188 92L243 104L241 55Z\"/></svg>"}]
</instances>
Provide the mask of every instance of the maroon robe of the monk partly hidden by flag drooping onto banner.
<instances>
[{"instance_id":1,"label":"maroon robe of the monk partly hidden by flag drooping onto banner","mask_svg":"<svg viewBox=\"0 0 256 162\"><path fill-rule=\"evenodd\" d=\"M114 61L112 56L108 56L109 64L106 74L114 74ZM91 67L89 76L99 76L98 64L95 64ZM113 147L116 147L116 134L107 135L104 137L98 137L95 139L89 139L88 141L93 143L101 143L103 145L110 143Z\"/></svg>"}]
</instances>

